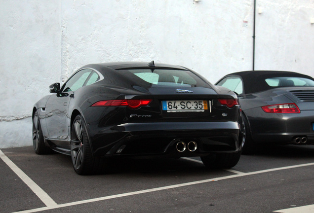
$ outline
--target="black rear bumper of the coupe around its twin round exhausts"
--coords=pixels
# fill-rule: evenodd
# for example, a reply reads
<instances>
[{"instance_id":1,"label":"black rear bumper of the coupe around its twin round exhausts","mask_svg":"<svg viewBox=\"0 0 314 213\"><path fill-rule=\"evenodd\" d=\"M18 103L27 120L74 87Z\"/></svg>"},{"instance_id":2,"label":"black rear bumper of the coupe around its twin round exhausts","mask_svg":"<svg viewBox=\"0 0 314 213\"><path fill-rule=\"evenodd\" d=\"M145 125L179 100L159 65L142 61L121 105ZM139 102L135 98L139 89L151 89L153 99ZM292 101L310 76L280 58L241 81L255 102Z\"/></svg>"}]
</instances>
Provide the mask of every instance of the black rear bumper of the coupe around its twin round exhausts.
<instances>
[{"instance_id":1,"label":"black rear bumper of the coupe around its twin round exhausts","mask_svg":"<svg viewBox=\"0 0 314 213\"><path fill-rule=\"evenodd\" d=\"M126 123L99 129L91 142L97 156L203 156L238 152L239 132L237 122ZM178 142L186 144L184 151ZM196 150L189 150L189 142Z\"/></svg>"}]
</instances>

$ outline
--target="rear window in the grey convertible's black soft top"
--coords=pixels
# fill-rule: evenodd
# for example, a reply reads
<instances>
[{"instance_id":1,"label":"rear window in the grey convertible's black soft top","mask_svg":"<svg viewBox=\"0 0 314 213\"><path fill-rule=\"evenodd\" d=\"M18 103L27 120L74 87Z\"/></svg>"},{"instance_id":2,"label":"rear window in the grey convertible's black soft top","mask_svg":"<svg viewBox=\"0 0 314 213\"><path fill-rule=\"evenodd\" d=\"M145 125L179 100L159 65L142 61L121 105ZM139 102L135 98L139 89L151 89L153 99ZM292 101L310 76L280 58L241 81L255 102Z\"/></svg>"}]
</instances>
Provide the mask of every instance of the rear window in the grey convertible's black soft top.
<instances>
[{"instance_id":1,"label":"rear window in the grey convertible's black soft top","mask_svg":"<svg viewBox=\"0 0 314 213\"><path fill-rule=\"evenodd\" d=\"M314 81L302 77L273 77L265 79L271 87L314 86Z\"/></svg>"}]
</instances>

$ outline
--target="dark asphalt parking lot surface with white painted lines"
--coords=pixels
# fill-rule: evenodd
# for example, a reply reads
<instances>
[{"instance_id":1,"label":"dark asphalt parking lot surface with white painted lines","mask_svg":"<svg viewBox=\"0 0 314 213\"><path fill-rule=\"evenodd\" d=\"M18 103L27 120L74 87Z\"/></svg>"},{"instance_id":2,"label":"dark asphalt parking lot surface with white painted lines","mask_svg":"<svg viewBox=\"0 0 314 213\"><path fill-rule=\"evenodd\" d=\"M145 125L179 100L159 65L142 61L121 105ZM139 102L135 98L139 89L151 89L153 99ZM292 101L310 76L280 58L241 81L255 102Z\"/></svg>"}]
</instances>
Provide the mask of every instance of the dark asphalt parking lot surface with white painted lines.
<instances>
[{"instance_id":1,"label":"dark asphalt parking lot surface with white painted lines","mask_svg":"<svg viewBox=\"0 0 314 213\"><path fill-rule=\"evenodd\" d=\"M314 213L314 146L267 146L230 170L199 158L112 162L79 176L71 157L0 151L0 213Z\"/></svg>"}]
</instances>

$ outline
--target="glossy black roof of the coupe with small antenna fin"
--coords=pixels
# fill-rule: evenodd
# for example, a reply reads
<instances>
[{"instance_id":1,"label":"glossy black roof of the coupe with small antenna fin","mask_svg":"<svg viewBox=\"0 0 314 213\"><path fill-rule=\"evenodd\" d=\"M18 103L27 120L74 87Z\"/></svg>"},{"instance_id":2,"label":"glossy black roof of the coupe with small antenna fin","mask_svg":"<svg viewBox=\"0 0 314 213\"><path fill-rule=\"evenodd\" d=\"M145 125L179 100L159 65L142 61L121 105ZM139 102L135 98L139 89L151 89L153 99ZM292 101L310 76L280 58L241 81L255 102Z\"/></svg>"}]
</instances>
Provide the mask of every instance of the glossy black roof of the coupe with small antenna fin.
<instances>
[{"instance_id":1,"label":"glossy black roof of the coupe with small antenna fin","mask_svg":"<svg viewBox=\"0 0 314 213\"><path fill-rule=\"evenodd\" d=\"M98 67L98 68L111 68L114 70L121 69L136 69L136 68L170 68L170 69L179 69L179 70L189 70L185 67L177 66L177 65L168 65L168 64L160 64L152 62L109 62L109 63L100 63L100 64L90 64L84 67ZM84 68L83 67L83 68Z\"/></svg>"}]
</instances>

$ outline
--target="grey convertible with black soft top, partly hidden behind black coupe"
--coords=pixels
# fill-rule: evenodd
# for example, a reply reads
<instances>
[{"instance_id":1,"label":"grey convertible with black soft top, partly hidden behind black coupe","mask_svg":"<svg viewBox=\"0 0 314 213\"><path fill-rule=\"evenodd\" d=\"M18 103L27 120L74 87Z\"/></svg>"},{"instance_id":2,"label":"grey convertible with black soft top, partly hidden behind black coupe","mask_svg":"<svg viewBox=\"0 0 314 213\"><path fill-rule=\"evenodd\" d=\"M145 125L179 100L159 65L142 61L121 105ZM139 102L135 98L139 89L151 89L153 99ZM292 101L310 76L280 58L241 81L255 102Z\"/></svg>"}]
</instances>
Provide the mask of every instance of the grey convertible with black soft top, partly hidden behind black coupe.
<instances>
[{"instance_id":1,"label":"grey convertible with black soft top, partly hidden behind black coupe","mask_svg":"<svg viewBox=\"0 0 314 213\"><path fill-rule=\"evenodd\" d=\"M216 85L237 93L244 122L243 154L257 144L314 144L314 79L289 71L242 71Z\"/></svg>"}]
</instances>

